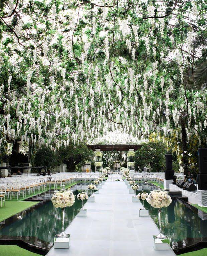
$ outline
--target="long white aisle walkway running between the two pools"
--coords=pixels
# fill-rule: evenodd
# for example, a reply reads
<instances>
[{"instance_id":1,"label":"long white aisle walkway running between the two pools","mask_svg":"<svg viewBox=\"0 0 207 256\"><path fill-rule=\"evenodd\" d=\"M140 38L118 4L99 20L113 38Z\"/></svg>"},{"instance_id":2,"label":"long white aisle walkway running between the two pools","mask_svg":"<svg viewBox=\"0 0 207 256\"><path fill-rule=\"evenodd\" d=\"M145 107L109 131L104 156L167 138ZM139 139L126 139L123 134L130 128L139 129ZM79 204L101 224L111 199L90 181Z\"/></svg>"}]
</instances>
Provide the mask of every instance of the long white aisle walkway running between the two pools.
<instances>
[{"instance_id":1,"label":"long white aisle walkway running between the two pools","mask_svg":"<svg viewBox=\"0 0 207 256\"><path fill-rule=\"evenodd\" d=\"M48 256L168 256L155 251L158 228L150 217L139 217L141 203L132 203L125 182L105 182L95 203L86 203L87 217L75 217L66 229L70 249L52 248Z\"/></svg>"}]
</instances>

